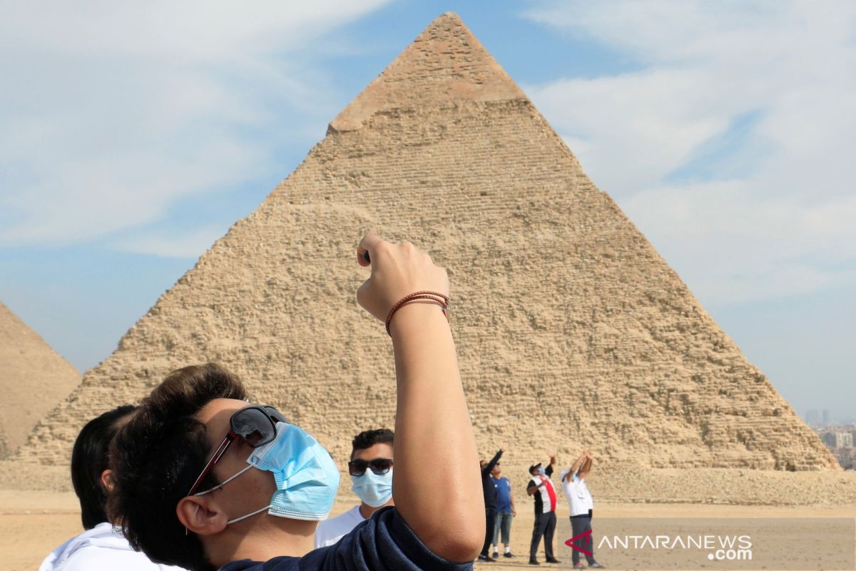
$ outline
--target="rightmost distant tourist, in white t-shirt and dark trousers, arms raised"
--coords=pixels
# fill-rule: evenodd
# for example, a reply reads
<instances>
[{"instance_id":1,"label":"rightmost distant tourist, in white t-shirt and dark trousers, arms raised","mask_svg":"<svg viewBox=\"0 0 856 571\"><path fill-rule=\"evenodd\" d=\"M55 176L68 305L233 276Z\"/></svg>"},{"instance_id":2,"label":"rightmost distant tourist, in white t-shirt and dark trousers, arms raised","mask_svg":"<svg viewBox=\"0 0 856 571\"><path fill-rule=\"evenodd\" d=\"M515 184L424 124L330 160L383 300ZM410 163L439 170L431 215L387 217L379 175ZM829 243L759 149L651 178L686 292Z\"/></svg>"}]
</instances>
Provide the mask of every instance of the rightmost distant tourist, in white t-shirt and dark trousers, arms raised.
<instances>
[{"instance_id":1,"label":"rightmost distant tourist, in white t-shirt and dark trousers, arms raised","mask_svg":"<svg viewBox=\"0 0 856 571\"><path fill-rule=\"evenodd\" d=\"M586 485L586 476L591 472L591 464L591 452L586 450L560 475L562 489L565 497L568 498L568 507L571 509L571 528L574 530L571 537L577 538L574 540L576 549L572 549L571 555L574 568L583 568L583 564L580 563L580 552L586 555L589 567L602 568L600 563L594 560L594 538L591 535L594 501Z\"/></svg>"}]
</instances>

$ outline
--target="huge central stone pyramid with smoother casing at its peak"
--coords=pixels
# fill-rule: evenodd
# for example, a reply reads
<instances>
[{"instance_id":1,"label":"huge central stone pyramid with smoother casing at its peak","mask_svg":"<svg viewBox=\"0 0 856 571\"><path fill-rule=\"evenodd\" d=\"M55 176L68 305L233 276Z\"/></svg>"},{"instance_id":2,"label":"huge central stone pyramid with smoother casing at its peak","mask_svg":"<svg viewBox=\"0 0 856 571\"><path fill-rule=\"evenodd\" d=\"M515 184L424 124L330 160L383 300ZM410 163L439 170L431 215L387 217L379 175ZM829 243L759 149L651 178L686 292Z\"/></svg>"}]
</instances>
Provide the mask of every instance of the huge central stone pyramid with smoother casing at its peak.
<instances>
[{"instance_id":1,"label":"huge central stone pyramid with smoother casing at its peak","mask_svg":"<svg viewBox=\"0 0 856 571\"><path fill-rule=\"evenodd\" d=\"M337 458L394 425L383 325L360 310L360 236L449 269L480 449L589 446L643 467L835 469L454 14L433 21L324 140L86 372L19 458L60 464L80 425L215 360Z\"/></svg>"}]
</instances>

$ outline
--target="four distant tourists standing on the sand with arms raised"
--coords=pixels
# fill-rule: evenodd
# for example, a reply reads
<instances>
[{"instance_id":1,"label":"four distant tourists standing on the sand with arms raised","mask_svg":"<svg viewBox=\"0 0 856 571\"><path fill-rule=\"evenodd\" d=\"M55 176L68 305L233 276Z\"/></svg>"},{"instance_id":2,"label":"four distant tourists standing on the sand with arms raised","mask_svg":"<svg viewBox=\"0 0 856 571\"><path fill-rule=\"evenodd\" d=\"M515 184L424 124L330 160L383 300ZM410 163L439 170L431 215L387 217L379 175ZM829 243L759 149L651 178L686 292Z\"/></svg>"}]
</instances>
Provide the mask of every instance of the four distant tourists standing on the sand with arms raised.
<instances>
[{"instance_id":1,"label":"four distant tourists standing on the sand with arms raised","mask_svg":"<svg viewBox=\"0 0 856 571\"><path fill-rule=\"evenodd\" d=\"M496 562L499 557L499 539L502 534L503 557L514 557L511 552L511 521L517 515L514 507L514 494L511 482L502 476L500 458L504 447L496 451L490 461L480 461L482 492L484 494L485 536L479 561ZM559 563L553 551L553 538L556 532L556 487L551 479L557 463L556 453L548 453L550 462L546 467L541 462L529 467L532 479L526 485L526 494L532 496L535 503L535 524L532 528L532 541L529 544L529 564L540 565L538 546L544 539L544 556L548 563ZM591 450L584 450L574 463L564 470L559 479L562 491L568 500L571 527L574 535L572 562L574 568L585 567L580 562L580 553L585 554L590 568L603 568L594 559L594 544L591 539L591 517L594 514L594 502L586 486L586 477L591 473L593 459ZM492 554L490 549L492 547Z\"/></svg>"}]
</instances>

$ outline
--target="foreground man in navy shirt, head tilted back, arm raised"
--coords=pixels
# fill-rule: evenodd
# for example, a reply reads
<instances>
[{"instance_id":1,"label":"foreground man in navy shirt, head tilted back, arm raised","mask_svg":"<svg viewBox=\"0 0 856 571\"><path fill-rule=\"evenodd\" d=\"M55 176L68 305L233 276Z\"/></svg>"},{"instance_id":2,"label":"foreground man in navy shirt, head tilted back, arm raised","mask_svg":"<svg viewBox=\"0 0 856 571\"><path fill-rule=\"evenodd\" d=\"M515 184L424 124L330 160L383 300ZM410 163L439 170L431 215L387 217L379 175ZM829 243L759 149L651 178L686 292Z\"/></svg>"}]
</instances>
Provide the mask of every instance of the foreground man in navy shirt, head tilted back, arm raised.
<instances>
[{"instance_id":1,"label":"foreground man in navy shirt, head tilted back, arm raised","mask_svg":"<svg viewBox=\"0 0 856 571\"><path fill-rule=\"evenodd\" d=\"M472 493L478 456L446 271L374 235L357 261L371 266L357 300L385 320L395 354L395 507L312 550L339 483L330 455L288 414L248 403L223 367L188 366L152 390L113 443L110 514L135 548L195 571L472 568L484 503Z\"/></svg>"}]
</instances>

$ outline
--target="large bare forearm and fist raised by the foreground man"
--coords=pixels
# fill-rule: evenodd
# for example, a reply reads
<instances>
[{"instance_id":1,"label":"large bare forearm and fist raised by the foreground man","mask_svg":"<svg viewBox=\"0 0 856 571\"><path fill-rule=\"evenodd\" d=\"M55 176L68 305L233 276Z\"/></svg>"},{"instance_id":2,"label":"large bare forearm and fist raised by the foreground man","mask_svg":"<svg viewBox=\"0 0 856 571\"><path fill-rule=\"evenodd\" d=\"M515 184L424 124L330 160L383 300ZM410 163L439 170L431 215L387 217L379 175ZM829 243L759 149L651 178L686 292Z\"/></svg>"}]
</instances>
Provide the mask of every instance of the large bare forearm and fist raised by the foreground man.
<instances>
[{"instance_id":1,"label":"large bare forearm and fist raised by the foreground man","mask_svg":"<svg viewBox=\"0 0 856 571\"><path fill-rule=\"evenodd\" d=\"M407 295L449 295L446 271L407 242L390 244L366 235L357 259L372 267L357 300L382 321ZM389 322L398 389L393 497L428 549L449 561L467 562L484 542L484 499L455 342L441 305L414 300ZM437 509L441 503L443 509Z\"/></svg>"}]
</instances>

